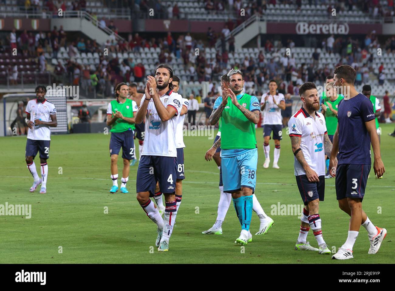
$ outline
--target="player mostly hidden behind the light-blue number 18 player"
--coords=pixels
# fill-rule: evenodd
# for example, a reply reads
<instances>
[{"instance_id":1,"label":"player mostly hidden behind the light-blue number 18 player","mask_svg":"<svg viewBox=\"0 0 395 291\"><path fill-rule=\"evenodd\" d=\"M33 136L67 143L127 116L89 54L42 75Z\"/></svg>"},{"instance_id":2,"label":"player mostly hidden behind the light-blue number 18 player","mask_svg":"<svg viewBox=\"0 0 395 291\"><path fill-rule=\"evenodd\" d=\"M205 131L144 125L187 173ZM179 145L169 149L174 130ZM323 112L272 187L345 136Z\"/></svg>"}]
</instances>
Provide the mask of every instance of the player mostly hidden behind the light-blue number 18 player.
<instances>
[{"instance_id":1,"label":"player mostly hidden behind the light-blue number 18 player","mask_svg":"<svg viewBox=\"0 0 395 291\"><path fill-rule=\"evenodd\" d=\"M222 91L225 90L225 82L226 84L229 83L229 78L228 75L223 75L221 77L221 89ZM220 97L218 97L220 98ZM221 120L219 120L219 124L221 124ZM218 134L219 133L219 134ZM222 223L225 220L226 213L228 212L229 205L231 202L231 194L224 192L224 184L222 182L222 168L221 168L221 157L220 157L220 141L217 143L217 141L221 137L221 131L220 128L218 129L218 133L215 137L214 140L214 145L206 152L205 159L207 161L211 160L213 158L218 165L218 168L220 169L220 183L219 183L219 188L220 188L220 201L218 202L218 210L217 210L217 218L214 223L214 225L209 228L208 230L205 230L202 232L202 234L222 234ZM216 155L218 157L216 158ZM273 225L274 221L270 217L268 217L263 211L263 208L261 207L260 203L258 202L258 199L256 198L255 194L252 194L252 210L256 212L256 214L259 217L260 220L260 227L259 231L255 235L261 235L261 234L266 234L267 231L271 228Z\"/></svg>"}]
</instances>

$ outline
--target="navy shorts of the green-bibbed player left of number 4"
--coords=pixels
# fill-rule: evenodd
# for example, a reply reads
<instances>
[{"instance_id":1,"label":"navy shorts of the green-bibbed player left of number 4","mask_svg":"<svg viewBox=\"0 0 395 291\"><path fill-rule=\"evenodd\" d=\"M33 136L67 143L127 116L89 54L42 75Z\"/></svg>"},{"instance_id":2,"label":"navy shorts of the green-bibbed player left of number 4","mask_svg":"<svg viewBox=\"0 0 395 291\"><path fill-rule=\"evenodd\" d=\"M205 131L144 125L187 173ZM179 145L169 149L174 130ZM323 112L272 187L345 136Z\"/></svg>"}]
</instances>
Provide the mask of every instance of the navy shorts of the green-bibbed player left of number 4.
<instances>
[{"instance_id":1,"label":"navy shorts of the green-bibbed player left of number 4","mask_svg":"<svg viewBox=\"0 0 395 291\"><path fill-rule=\"evenodd\" d=\"M110 156L113 154L119 154L121 148L122 148L122 158L126 160L135 159L133 130L111 133Z\"/></svg>"}]
</instances>

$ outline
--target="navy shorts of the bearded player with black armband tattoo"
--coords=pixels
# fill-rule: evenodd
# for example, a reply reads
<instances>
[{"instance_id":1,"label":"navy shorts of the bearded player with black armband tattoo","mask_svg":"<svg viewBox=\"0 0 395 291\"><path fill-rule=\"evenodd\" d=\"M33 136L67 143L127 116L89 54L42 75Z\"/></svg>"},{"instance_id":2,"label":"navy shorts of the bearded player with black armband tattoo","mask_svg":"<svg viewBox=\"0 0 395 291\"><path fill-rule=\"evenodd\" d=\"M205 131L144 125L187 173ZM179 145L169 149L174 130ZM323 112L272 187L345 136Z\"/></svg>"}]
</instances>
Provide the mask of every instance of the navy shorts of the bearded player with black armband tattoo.
<instances>
[{"instance_id":1,"label":"navy shorts of the bearded player with black armband tattoo","mask_svg":"<svg viewBox=\"0 0 395 291\"><path fill-rule=\"evenodd\" d=\"M309 182L306 175L296 177L296 184L299 188L300 196L305 205L308 202L318 199L324 201L325 196L325 176L320 176L320 182Z\"/></svg>"}]
</instances>

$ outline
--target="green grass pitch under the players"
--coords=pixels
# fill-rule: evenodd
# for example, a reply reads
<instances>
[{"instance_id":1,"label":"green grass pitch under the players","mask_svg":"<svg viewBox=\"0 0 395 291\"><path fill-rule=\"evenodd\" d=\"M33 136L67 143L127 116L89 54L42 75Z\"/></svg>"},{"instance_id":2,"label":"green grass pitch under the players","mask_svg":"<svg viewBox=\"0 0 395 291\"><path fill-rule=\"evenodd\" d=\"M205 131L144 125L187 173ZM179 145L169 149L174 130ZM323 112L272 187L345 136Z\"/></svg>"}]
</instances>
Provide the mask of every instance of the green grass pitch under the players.
<instances>
[{"instance_id":1,"label":"green grass pitch under the players","mask_svg":"<svg viewBox=\"0 0 395 291\"><path fill-rule=\"evenodd\" d=\"M253 236L245 251L233 242L240 225L233 203L222 236L203 235L216 219L219 171L204 154L213 144L208 137L184 137L185 176L183 198L167 253L158 253L156 225L135 198L137 164L131 167L128 194L109 194L111 188L109 135L53 135L47 194L31 194L32 177L24 161L25 137L2 137L0 204L31 204L30 219L0 216L0 263L393 263L395 259L395 139L387 133L394 125L381 125L381 152L386 173L375 179L373 168L363 209L371 221L387 228L380 251L368 255L369 240L361 227L354 259L331 260L329 255L294 250L299 233L297 215L271 215L271 205L302 204L293 175L290 139L283 131L280 169L263 169L262 129L257 129L259 161L256 196L275 224L264 236ZM271 160L273 161L273 140ZM137 145L137 143L136 143ZM36 163L37 163L36 159ZM119 160L121 169L122 160ZM61 168L60 168L61 167ZM62 171L62 173L61 173ZM120 170L121 173L121 170ZM337 206L335 179L326 181L320 203L324 239L329 248L346 240L348 215ZM108 207L108 214L104 213ZM251 232L259 220L252 214ZM310 232L308 240L317 246ZM59 252L62 247L62 252Z\"/></svg>"}]
</instances>

